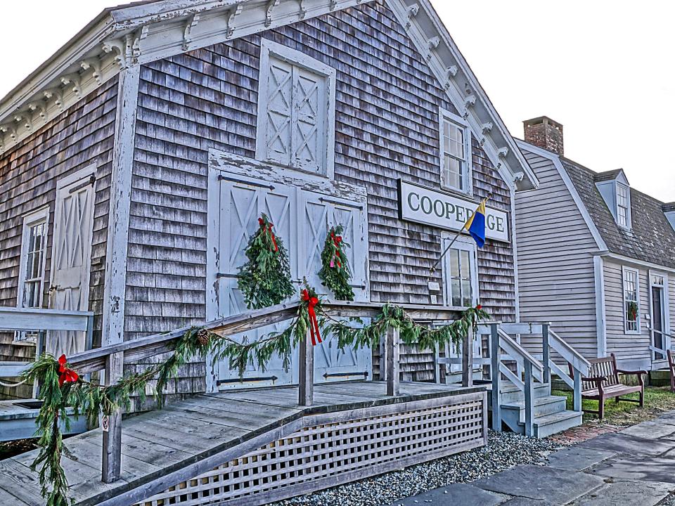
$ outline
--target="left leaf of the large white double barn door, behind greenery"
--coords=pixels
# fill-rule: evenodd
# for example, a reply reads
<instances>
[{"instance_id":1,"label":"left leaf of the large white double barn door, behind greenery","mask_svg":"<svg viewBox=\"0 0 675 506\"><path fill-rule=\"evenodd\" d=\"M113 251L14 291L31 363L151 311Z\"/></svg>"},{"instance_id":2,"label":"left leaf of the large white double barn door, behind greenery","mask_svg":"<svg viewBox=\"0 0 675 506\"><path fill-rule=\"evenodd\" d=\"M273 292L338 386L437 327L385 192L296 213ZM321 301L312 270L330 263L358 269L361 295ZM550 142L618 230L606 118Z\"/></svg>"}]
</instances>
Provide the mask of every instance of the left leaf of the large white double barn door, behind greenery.
<instances>
[{"instance_id":1,"label":"left leaf of the large white double barn door, behind greenery","mask_svg":"<svg viewBox=\"0 0 675 506\"><path fill-rule=\"evenodd\" d=\"M263 212L274 223L274 233L283 238L284 245L295 242L297 236L295 217L296 192L288 186L253 186L228 179L219 179L221 213L219 216L219 313L217 317L231 316L247 311L243 296L238 289L236 273L246 257L244 249L252 234L257 231L258 217ZM291 259L291 271L297 270ZM285 323L269 325L235 339L254 341L272 331L283 330ZM291 359L295 361L294 357ZM288 384L293 380L293 367L286 370L281 357L274 356L265 370L257 364L249 364L243 376L247 387L264 387L272 384ZM241 387L237 370L231 370L227 361L219 363L219 387Z\"/></svg>"}]
</instances>

